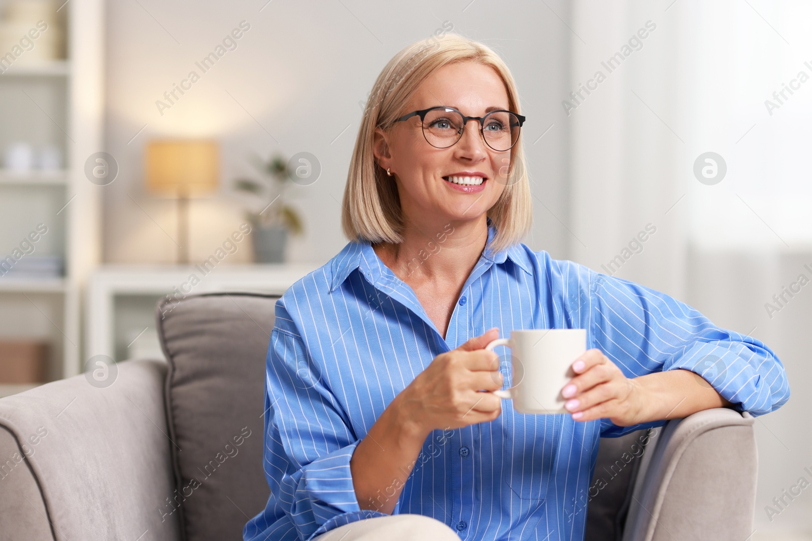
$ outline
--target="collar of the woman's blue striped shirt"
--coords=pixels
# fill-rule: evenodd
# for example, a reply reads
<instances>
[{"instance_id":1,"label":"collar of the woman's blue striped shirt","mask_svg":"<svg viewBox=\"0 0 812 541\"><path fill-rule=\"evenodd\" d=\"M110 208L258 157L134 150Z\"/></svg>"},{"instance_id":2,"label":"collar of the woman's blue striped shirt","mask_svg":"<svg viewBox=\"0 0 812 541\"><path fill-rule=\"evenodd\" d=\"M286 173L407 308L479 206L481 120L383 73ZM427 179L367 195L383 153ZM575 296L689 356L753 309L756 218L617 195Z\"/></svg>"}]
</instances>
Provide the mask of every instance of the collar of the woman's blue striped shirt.
<instances>
[{"instance_id":1,"label":"collar of the woman's blue striped shirt","mask_svg":"<svg viewBox=\"0 0 812 541\"><path fill-rule=\"evenodd\" d=\"M487 217L488 224L488 242L485 245L485 250L482 251L482 258L491 261L492 263L503 264L505 260L510 258L513 263L519 266L525 273L533 276L533 271L520 244L514 243L507 248L500 251L493 251L490 243L496 234L496 228L490 217ZM330 282L330 291L335 290L338 286L343 284L347 277L356 268L361 268L361 273L364 274L366 279L374 284L376 279L380 277L382 271L382 261L378 258L378 254L372 249L372 244L366 240L351 241L347 246L343 247L332 260L332 281Z\"/></svg>"}]
</instances>

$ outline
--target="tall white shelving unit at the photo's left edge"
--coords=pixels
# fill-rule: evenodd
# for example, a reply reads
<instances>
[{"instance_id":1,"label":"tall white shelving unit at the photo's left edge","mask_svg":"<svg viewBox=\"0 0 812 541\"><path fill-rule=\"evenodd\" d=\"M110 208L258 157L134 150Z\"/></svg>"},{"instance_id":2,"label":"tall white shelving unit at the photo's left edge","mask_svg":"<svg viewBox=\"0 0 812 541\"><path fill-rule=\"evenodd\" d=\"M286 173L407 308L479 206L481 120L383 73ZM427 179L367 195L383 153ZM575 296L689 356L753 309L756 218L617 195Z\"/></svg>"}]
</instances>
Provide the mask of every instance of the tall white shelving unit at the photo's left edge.
<instances>
[{"instance_id":1,"label":"tall white shelving unit at the photo's left edge","mask_svg":"<svg viewBox=\"0 0 812 541\"><path fill-rule=\"evenodd\" d=\"M64 170L54 172L0 168L0 258L40 222L48 233L35 253L63 256L63 277L0 276L0 337L47 341L45 381L74 376L83 364L80 301L100 261L104 188L84 175L84 162L103 150L104 2L61 3L56 6L65 21L67 59L14 62L0 74L0 152L17 140L35 148L54 144L65 162ZM32 386L0 384L0 396Z\"/></svg>"}]
</instances>

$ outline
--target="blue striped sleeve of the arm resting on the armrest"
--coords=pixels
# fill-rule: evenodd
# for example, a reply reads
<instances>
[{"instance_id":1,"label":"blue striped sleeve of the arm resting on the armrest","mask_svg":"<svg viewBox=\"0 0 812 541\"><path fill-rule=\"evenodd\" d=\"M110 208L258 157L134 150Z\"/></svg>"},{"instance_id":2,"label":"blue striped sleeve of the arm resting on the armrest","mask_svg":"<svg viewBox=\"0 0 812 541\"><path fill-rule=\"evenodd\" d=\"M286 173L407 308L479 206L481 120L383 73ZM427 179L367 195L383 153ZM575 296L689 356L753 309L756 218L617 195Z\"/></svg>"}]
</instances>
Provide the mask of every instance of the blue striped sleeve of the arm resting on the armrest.
<instances>
[{"instance_id":1,"label":"blue striped sleeve of the arm resting on the armrest","mask_svg":"<svg viewBox=\"0 0 812 541\"><path fill-rule=\"evenodd\" d=\"M753 415L769 413L788 400L784 366L761 341L719 328L667 294L592 270L586 274L594 347L626 376L679 368L693 371L736 410ZM602 436L656 424L617 427L603 419Z\"/></svg>"}]
</instances>

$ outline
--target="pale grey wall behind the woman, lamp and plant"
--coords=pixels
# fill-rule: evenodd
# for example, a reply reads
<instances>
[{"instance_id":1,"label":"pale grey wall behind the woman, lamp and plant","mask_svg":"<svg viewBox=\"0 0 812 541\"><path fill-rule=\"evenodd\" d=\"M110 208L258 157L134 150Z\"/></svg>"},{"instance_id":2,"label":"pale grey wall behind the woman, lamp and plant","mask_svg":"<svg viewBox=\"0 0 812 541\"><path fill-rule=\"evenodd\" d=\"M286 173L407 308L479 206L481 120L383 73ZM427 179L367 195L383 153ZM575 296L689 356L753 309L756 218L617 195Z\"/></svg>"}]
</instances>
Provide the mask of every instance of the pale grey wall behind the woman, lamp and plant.
<instances>
[{"instance_id":1,"label":"pale grey wall behind the woman, lamp and plant","mask_svg":"<svg viewBox=\"0 0 812 541\"><path fill-rule=\"evenodd\" d=\"M533 192L549 208L535 202L535 226L526 242L565 257L567 126L555 123L538 137L558 117L569 30L541 2L469 2L276 0L264 9L266 0L109 2L106 151L120 173L105 196L105 260L174 260L173 203L146 194L142 181L144 144L163 136L213 136L222 144L221 193L192 205L192 260L210 255L240 223L229 184L253 173L247 157L277 151L287 157L312 152L322 164L319 180L292 194L307 233L292 243L289 260L330 259L347 242L339 201L361 118L359 101L398 50L430 36L445 20L496 49L512 68L528 117L524 135ZM565 2L547 4L568 18ZM195 62L243 20L250 30L237 49L160 114L155 101L189 71L201 73ZM248 249L240 249L231 262L247 256Z\"/></svg>"}]
</instances>

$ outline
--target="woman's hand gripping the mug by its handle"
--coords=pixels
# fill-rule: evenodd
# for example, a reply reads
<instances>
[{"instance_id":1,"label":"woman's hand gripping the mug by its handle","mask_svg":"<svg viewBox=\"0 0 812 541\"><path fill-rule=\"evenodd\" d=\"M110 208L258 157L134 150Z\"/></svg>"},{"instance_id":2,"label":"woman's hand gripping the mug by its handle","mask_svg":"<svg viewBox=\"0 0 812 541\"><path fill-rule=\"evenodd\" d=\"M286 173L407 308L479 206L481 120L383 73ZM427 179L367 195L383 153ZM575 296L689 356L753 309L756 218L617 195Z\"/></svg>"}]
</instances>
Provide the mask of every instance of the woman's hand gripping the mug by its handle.
<instances>
[{"instance_id":1,"label":"woman's hand gripping the mug by its handle","mask_svg":"<svg viewBox=\"0 0 812 541\"><path fill-rule=\"evenodd\" d=\"M428 436L435 429L467 427L499 417L501 399L479 392L502 389L499 355L484 349L497 338L499 328L491 328L435 357L397 396L403 422Z\"/></svg>"}]
</instances>

